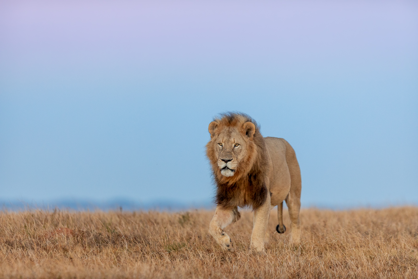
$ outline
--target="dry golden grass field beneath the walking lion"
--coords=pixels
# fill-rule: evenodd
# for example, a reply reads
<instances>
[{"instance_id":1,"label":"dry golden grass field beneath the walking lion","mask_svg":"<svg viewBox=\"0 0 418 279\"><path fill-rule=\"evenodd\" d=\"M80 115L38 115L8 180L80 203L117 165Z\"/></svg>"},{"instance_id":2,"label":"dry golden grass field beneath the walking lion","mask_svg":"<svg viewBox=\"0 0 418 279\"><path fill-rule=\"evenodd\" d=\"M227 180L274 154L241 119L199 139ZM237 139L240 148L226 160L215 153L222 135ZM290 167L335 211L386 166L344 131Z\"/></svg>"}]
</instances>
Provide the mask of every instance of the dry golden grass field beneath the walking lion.
<instances>
[{"instance_id":1,"label":"dry golden grass field beneath the walking lion","mask_svg":"<svg viewBox=\"0 0 418 279\"><path fill-rule=\"evenodd\" d=\"M418 278L418 207L301 210L302 244L248 253L252 213L209 235L213 212L0 212L0 278ZM288 228L288 214L284 214Z\"/></svg>"}]
</instances>

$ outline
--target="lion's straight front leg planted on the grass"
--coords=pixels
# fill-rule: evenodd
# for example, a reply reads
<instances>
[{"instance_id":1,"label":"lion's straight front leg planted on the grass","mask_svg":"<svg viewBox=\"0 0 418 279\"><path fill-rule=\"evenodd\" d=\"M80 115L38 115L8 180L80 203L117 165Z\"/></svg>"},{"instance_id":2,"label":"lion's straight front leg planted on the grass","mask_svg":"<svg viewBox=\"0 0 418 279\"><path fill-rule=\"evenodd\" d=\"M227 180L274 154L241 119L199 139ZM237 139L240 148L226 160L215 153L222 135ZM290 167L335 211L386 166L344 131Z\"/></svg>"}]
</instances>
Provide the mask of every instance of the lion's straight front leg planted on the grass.
<instances>
[{"instance_id":1,"label":"lion's straight front leg planted on the grass","mask_svg":"<svg viewBox=\"0 0 418 279\"><path fill-rule=\"evenodd\" d=\"M264 252L264 240L270 218L270 195L262 206L254 210L254 227L252 228L250 248Z\"/></svg>"}]
</instances>

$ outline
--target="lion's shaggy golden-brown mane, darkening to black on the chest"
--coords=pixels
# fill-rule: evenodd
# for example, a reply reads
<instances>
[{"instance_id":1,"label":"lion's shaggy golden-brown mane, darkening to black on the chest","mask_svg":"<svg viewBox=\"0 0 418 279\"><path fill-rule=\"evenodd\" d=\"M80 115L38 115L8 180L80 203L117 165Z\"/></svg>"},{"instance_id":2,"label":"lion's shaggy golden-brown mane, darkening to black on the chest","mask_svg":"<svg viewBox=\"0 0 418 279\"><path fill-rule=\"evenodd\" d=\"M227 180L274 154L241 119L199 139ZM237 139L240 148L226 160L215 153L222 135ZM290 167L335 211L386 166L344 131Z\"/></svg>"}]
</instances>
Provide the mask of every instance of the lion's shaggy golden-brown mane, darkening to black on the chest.
<instances>
[{"instance_id":1,"label":"lion's shaggy golden-brown mane, darkening to black on the chest","mask_svg":"<svg viewBox=\"0 0 418 279\"><path fill-rule=\"evenodd\" d=\"M265 177L268 171L267 149L260 133L260 126L244 113L223 113L220 116L220 118L214 118L214 121L219 123L218 131L234 127L246 134L247 131L244 131L242 127L245 122L249 121L255 125L255 134L246 149L246 159L239 162L232 177L223 176L219 170L214 144L212 144L216 137L206 144L206 156L212 165L213 179L217 186L215 202L225 208L250 206L257 209L263 205L267 197Z\"/></svg>"}]
</instances>

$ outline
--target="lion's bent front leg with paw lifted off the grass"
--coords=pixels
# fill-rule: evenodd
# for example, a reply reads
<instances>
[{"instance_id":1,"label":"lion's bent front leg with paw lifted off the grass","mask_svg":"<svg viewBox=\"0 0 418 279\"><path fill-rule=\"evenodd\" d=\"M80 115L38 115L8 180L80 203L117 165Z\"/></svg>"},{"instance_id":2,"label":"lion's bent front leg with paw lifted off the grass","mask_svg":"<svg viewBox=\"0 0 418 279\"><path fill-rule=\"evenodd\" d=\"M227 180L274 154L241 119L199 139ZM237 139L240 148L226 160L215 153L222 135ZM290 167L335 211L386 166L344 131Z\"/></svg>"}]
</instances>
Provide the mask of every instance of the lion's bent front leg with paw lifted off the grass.
<instances>
[{"instance_id":1,"label":"lion's bent front leg with paw lifted off the grass","mask_svg":"<svg viewBox=\"0 0 418 279\"><path fill-rule=\"evenodd\" d=\"M209 233L215 238L215 241L222 249L232 250L232 240L223 229L230 223L238 221L240 217L241 215L237 207L233 209L224 209L220 206L216 207L215 214L209 224Z\"/></svg>"}]
</instances>

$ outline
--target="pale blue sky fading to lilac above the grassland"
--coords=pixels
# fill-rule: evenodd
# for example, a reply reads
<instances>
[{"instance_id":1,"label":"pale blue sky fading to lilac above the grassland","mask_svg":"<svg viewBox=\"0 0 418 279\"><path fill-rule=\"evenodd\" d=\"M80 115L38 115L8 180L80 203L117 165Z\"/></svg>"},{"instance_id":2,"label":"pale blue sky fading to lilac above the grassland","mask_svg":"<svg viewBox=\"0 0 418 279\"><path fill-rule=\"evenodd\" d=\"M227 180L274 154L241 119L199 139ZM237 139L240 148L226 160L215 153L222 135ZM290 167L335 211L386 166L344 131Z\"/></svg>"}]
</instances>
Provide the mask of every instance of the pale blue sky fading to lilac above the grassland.
<instances>
[{"instance_id":1,"label":"pale blue sky fading to lilac above the grassland","mask_svg":"<svg viewBox=\"0 0 418 279\"><path fill-rule=\"evenodd\" d=\"M207 202L218 113L302 206L418 204L414 1L1 1L0 200Z\"/></svg>"}]
</instances>

